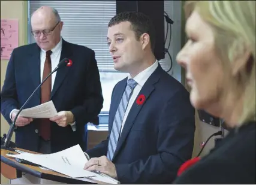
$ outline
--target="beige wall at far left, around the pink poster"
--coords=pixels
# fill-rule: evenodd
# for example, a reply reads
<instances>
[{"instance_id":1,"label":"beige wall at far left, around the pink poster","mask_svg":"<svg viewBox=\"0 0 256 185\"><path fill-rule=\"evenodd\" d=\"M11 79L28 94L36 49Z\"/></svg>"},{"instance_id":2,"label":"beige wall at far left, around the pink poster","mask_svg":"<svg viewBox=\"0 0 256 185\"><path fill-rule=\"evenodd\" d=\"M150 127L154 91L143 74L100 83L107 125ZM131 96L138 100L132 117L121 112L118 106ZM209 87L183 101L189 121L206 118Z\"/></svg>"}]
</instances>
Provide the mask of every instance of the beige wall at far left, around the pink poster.
<instances>
[{"instance_id":1,"label":"beige wall at far left, around the pink poster","mask_svg":"<svg viewBox=\"0 0 256 185\"><path fill-rule=\"evenodd\" d=\"M27 43L27 1L1 1L1 19L19 19L19 46ZM5 71L8 60L1 59L1 89L4 84ZM1 136L7 134L9 129L8 123L1 114ZM11 139L14 141L15 134ZM1 184L8 183L8 180L1 176Z\"/></svg>"}]
</instances>

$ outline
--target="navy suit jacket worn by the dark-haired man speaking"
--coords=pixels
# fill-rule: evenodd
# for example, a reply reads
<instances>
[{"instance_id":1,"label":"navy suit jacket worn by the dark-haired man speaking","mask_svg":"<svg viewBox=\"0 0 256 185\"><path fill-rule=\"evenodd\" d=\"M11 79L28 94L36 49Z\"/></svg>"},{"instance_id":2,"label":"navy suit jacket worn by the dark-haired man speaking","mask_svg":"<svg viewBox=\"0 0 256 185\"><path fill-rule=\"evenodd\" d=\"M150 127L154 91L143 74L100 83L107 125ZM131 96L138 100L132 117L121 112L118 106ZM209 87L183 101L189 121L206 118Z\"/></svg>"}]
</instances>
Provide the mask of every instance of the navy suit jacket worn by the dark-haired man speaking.
<instances>
[{"instance_id":1,"label":"navy suit jacket worn by the dark-haired man speaking","mask_svg":"<svg viewBox=\"0 0 256 185\"><path fill-rule=\"evenodd\" d=\"M109 136L127 78L113 89ZM187 90L158 64L131 107L113 156L121 183L171 183L194 147L195 111ZM107 155L109 137L88 150L90 157Z\"/></svg>"}]
</instances>

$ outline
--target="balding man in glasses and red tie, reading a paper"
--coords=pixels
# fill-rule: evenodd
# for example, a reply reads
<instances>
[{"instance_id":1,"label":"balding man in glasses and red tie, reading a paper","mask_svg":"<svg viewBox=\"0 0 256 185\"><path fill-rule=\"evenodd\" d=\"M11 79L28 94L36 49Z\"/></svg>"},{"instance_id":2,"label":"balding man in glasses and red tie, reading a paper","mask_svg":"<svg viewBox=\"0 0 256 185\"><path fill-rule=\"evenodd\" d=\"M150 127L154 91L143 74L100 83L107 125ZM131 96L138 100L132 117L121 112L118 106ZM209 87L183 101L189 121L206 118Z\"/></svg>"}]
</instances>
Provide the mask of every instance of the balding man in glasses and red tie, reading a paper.
<instances>
[{"instance_id":1,"label":"balding man in glasses and red tie, reading a paper","mask_svg":"<svg viewBox=\"0 0 256 185\"><path fill-rule=\"evenodd\" d=\"M60 68L38 89L25 108L52 101L58 115L50 119L19 116L16 145L27 150L53 153L76 144L85 148L84 126L103 107L95 53L88 47L61 38L63 22L58 11L41 7L31 17L36 43L15 48L2 87L1 113L9 124L35 88L67 57L71 66Z\"/></svg>"}]
</instances>

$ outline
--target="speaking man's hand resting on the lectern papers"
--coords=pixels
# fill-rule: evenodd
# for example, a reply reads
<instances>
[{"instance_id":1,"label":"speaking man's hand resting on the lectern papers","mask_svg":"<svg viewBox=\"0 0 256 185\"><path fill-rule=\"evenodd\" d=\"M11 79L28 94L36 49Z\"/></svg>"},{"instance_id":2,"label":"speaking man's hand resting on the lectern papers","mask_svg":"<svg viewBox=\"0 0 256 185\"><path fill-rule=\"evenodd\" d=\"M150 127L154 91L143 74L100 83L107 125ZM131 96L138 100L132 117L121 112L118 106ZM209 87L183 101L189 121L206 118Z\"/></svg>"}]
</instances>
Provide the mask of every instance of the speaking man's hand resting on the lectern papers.
<instances>
[{"instance_id":1,"label":"speaking man's hand resting on the lectern papers","mask_svg":"<svg viewBox=\"0 0 256 185\"><path fill-rule=\"evenodd\" d=\"M115 179L118 178L118 175L116 174L116 166L109 159L107 159L106 156L91 158L90 160L88 160L88 162L86 162L83 169L86 169L88 171L98 170L100 172L103 172L104 174L109 175L110 177L113 177Z\"/></svg>"}]
</instances>

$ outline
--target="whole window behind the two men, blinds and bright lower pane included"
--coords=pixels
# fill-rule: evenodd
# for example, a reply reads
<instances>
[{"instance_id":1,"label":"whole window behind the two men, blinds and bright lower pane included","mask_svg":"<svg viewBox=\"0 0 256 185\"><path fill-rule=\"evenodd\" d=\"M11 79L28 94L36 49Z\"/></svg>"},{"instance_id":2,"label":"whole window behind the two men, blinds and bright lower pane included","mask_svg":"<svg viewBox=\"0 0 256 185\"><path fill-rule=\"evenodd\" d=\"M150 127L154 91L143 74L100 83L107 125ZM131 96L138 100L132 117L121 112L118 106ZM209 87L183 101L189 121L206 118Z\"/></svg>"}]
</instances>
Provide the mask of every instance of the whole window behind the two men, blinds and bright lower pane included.
<instances>
[{"instance_id":1,"label":"whole window behind the two men, blinds and bright lower pane included","mask_svg":"<svg viewBox=\"0 0 256 185\"><path fill-rule=\"evenodd\" d=\"M113 60L106 42L107 25L110 19L116 15L116 1L29 1L29 43L35 42L34 37L30 34L31 14L43 5L58 10L61 20L64 22L61 33L64 40L89 47L95 51L104 97L100 124L107 127L113 87L118 81L127 77L126 73L118 72L113 68ZM168 56L160 63L165 70L170 67Z\"/></svg>"}]
</instances>

